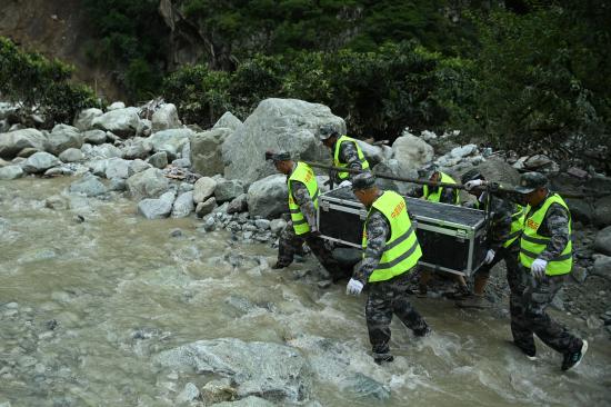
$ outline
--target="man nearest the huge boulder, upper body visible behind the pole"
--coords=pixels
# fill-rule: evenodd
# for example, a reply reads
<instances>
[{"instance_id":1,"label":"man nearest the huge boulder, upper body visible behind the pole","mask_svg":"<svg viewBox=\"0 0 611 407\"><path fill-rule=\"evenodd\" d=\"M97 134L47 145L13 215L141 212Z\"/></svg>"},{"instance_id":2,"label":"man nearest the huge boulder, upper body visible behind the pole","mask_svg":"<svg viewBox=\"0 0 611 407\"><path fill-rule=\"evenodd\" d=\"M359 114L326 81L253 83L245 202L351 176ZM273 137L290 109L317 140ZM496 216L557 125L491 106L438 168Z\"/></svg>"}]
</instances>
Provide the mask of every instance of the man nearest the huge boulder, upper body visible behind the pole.
<instances>
[{"instance_id":1,"label":"man nearest the huge boulder, upper body visible behind the pole","mask_svg":"<svg viewBox=\"0 0 611 407\"><path fill-rule=\"evenodd\" d=\"M322 143L333 152L333 167L369 170L369 162L364 158L359 143L353 138L339 135L331 125L320 128L319 138ZM341 187L349 187L353 175L350 172L335 172L332 181Z\"/></svg>"}]
</instances>

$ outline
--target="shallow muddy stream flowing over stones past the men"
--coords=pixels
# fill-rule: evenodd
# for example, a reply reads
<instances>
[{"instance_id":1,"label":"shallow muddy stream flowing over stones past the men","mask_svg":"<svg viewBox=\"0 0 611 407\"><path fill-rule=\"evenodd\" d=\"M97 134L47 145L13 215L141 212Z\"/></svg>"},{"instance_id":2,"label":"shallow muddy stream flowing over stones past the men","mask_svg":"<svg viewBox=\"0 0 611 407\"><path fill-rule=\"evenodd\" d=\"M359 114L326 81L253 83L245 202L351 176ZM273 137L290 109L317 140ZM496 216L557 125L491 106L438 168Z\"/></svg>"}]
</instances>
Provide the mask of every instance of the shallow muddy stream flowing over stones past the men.
<instances>
[{"instance_id":1,"label":"shallow muddy stream flowing over stones past the men","mask_svg":"<svg viewBox=\"0 0 611 407\"><path fill-rule=\"evenodd\" d=\"M608 338L590 338L584 361L562 373L561 356L541 343L534 363L508 343L507 312L413 297L434 334L415 339L394 318L395 361L379 367L364 296L347 297L343 284L319 288L306 272L317 268L311 256L272 270L269 245L201 232L194 218L144 220L118 196L46 208L69 182L0 181L0 406L172 406L187 383L209 377L161 367L159 353L201 339L291 346L304 336L327 338L390 397L363 398L314 375L301 405L611 405Z\"/></svg>"}]
</instances>

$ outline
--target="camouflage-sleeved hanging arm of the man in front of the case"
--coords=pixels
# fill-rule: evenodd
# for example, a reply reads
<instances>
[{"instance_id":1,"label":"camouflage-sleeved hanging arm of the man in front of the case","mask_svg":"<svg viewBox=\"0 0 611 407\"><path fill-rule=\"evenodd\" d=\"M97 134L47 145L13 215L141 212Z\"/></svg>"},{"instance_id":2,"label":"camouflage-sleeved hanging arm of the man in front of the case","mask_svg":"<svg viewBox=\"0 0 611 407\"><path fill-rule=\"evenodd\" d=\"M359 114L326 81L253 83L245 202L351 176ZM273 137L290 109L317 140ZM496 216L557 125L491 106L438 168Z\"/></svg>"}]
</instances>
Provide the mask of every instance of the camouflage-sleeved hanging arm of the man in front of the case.
<instances>
[{"instance_id":1,"label":"camouflage-sleeved hanging arm of the man in front of the case","mask_svg":"<svg viewBox=\"0 0 611 407\"><path fill-rule=\"evenodd\" d=\"M367 284L369 276L375 270L384 252L388 237L390 236L390 225L384 216L373 209L365 225L367 230L367 249L364 250L363 260L357 271L354 279Z\"/></svg>"}]
</instances>

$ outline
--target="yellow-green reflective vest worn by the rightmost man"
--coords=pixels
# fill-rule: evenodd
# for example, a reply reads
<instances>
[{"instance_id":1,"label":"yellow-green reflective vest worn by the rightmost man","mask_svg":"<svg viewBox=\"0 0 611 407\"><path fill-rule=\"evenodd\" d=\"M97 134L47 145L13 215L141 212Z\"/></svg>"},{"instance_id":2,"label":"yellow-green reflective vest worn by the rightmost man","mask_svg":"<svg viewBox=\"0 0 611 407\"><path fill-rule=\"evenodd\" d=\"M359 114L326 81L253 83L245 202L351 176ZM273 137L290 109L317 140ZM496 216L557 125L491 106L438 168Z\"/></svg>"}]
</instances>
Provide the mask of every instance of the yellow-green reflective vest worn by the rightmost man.
<instances>
[{"instance_id":1,"label":"yellow-green reflective vest worn by the rightmost man","mask_svg":"<svg viewBox=\"0 0 611 407\"><path fill-rule=\"evenodd\" d=\"M548 197L541 208L539 208L534 214L527 217L524 222L524 230L522 237L520 238L520 262L530 269L530 266L545 250L545 247L550 242L550 238L541 236L538 234L539 227L545 219L545 214L550 208L550 205L559 204L569 214L569 207L559 195L554 193L551 197ZM572 235L572 221L569 215L569 235ZM571 272L573 267L573 244L571 239L567 242L567 247L560 254L560 256L548 261L548 267L545 268L545 274L548 276L565 275Z\"/></svg>"}]
</instances>

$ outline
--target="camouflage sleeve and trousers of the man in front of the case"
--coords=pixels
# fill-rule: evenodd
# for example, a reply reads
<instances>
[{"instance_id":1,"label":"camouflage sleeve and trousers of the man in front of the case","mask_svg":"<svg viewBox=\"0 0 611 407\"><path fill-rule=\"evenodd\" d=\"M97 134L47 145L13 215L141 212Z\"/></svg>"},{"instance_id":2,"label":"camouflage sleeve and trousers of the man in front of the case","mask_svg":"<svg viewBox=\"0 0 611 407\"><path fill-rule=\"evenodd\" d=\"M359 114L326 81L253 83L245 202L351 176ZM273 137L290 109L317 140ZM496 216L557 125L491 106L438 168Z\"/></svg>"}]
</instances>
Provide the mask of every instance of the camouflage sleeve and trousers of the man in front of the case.
<instances>
[{"instance_id":1,"label":"camouflage sleeve and trousers of the man in front of the case","mask_svg":"<svg viewBox=\"0 0 611 407\"><path fill-rule=\"evenodd\" d=\"M365 284L378 267L384 246L390 237L390 225L385 217L372 209L367 225L367 249L361 266L353 278ZM414 335L423 336L429 331L424 319L408 301L408 287L419 278L418 266L390 280L368 282L369 296L365 305L367 328L377 360L388 360L390 355L390 322L397 315L401 322L412 329Z\"/></svg>"}]
</instances>

